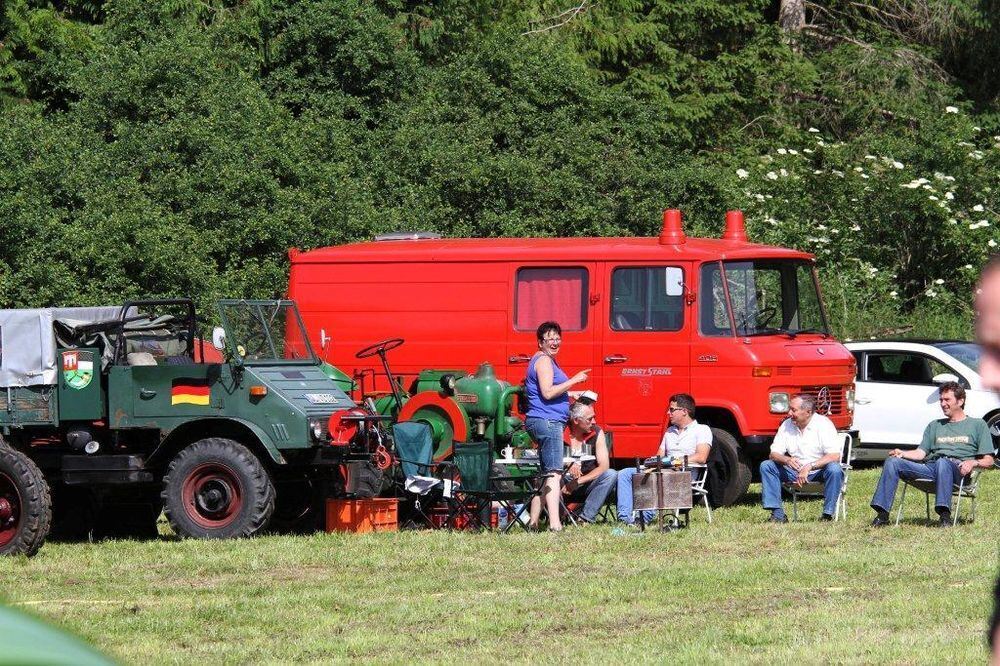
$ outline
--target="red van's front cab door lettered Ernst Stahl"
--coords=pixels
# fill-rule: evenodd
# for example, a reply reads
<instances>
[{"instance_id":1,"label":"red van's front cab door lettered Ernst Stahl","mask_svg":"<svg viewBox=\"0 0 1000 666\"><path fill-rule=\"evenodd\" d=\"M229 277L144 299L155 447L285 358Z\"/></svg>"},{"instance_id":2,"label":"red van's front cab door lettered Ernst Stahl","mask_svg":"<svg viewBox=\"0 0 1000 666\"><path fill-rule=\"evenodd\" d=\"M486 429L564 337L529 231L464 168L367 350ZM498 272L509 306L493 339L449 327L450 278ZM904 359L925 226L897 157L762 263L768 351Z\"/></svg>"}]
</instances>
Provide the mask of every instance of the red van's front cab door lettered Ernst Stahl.
<instances>
[{"instance_id":1,"label":"red van's front cab door lettered Ernst Stahl","mask_svg":"<svg viewBox=\"0 0 1000 666\"><path fill-rule=\"evenodd\" d=\"M655 453L667 402L691 390L690 328L681 265L606 264L599 417L614 456Z\"/></svg>"}]
</instances>

